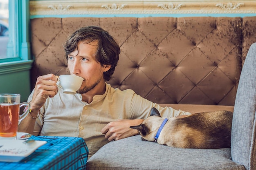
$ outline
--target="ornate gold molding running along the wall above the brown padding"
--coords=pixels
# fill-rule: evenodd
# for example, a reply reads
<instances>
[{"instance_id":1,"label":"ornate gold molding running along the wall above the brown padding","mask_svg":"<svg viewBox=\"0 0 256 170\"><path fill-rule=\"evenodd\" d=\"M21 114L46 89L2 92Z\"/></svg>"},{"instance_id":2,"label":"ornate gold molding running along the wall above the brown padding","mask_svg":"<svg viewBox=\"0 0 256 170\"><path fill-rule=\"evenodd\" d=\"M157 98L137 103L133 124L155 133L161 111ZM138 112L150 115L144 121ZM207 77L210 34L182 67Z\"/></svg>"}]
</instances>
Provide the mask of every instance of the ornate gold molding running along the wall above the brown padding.
<instances>
[{"instance_id":1,"label":"ornate gold molding running along the wall above the brown padding","mask_svg":"<svg viewBox=\"0 0 256 170\"><path fill-rule=\"evenodd\" d=\"M256 0L31 0L31 15L256 13Z\"/></svg>"}]
</instances>

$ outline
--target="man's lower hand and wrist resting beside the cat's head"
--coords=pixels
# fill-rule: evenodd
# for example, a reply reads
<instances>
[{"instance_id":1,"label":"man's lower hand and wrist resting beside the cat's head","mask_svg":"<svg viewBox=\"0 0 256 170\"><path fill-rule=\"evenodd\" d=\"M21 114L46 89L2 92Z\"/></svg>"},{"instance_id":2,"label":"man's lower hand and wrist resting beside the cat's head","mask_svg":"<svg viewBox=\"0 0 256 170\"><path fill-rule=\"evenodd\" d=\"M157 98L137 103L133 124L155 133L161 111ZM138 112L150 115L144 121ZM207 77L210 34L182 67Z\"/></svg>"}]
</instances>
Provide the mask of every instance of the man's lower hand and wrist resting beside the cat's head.
<instances>
[{"instance_id":1,"label":"man's lower hand and wrist resting beside the cat's head","mask_svg":"<svg viewBox=\"0 0 256 170\"><path fill-rule=\"evenodd\" d=\"M138 130L132 129L130 126L137 126L143 121L144 119L112 121L102 128L101 133L105 134L105 137L109 141L124 139L126 137L137 135L139 133Z\"/></svg>"}]
</instances>

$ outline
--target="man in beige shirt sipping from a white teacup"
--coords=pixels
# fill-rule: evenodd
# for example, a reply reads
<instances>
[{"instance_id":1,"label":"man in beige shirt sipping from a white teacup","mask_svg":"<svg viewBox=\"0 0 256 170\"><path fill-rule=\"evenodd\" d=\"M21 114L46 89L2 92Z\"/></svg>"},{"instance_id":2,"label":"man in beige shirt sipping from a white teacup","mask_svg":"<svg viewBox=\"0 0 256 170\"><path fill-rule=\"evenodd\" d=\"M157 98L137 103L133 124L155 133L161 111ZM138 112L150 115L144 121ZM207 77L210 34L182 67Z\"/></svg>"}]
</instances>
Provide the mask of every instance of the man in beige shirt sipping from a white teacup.
<instances>
[{"instance_id":1,"label":"man in beige shirt sipping from a white teacup","mask_svg":"<svg viewBox=\"0 0 256 170\"><path fill-rule=\"evenodd\" d=\"M132 90L114 89L111 79L119 60L120 48L107 31L97 26L83 27L67 38L64 49L72 75L83 77L76 95L63 93L53 74L38 77L29 96L31 112L22 120L19 131L34 135L83 137L89 158L103 145L138 131L155 107L163 117L190 113L162 108Z\"/></svg>"}]
</instances>

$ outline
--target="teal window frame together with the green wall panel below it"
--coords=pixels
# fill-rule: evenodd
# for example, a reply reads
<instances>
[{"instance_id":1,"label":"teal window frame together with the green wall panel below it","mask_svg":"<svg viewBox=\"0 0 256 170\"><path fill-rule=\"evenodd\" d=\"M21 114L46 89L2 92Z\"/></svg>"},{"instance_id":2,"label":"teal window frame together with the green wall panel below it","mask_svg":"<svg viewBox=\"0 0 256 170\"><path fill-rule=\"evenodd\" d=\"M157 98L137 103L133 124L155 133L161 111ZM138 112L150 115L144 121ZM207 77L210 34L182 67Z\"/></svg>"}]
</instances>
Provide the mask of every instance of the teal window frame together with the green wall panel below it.
<instances>
[{"instance_id":1,"label":"teal window frame together with the green wall panel below it","mask_svg":"<svg viewBox=\"0 0 256 170\"><path fill-rule=\"evenodd\" d=\"M20 102L31 93L29 0L9 0L7 57L0 59L0 93L20 94Z\"/></svg>"}]
</instances>

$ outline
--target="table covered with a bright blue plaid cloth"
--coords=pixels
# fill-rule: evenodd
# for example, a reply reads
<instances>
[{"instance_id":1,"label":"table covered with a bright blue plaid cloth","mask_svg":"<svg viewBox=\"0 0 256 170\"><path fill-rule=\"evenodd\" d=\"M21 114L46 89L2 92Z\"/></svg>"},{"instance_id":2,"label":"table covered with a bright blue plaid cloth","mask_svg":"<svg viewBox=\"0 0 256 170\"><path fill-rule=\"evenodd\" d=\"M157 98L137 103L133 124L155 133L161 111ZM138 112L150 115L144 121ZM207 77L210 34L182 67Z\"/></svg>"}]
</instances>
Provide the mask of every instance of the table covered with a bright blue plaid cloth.
<instances>
[{"instance_id":1,"label":"table covered with a bright blue plaid cloth","mask_svg":"<svg viewBox=\"0 0 256 170\"><path fill-rule=\"evenodd\" d=\"M47 143L20 162L0 162L0 170L85 170L89 151L83 138L32 136L30 139Z\"/></svg>"}]
</instances>

